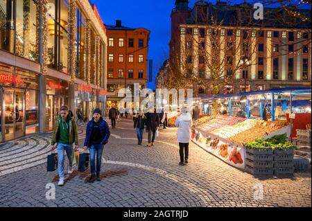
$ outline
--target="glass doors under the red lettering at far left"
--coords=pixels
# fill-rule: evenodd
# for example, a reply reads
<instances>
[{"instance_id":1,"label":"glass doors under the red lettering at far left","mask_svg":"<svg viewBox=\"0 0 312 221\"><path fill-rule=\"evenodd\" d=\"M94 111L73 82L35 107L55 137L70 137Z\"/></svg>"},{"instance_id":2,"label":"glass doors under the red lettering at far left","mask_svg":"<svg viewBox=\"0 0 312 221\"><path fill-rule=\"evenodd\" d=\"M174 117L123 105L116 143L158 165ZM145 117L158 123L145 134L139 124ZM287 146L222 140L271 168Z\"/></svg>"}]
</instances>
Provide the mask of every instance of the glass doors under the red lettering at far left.
<instances>
[{"instance_id":1,"label":"glass doors under the red lettering at far left","mask_svg":"<svg viewBox=\"0 0 312 221\"><path fill-rule=\"evenodd\" d=\"M24 136L25 91L3 91L4 141Z\"/></svg>"}]
</instances>

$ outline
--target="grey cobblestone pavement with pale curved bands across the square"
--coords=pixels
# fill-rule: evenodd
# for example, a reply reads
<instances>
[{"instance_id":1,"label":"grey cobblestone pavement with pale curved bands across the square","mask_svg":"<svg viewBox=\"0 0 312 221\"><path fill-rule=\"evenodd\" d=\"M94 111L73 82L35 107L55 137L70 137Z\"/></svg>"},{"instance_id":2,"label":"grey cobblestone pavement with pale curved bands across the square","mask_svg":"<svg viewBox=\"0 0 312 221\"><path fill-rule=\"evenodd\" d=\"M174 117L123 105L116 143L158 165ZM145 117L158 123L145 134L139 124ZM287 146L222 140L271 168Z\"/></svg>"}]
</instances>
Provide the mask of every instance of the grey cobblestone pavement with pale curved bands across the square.
<instances>
[{"instance_id":1,"label":"grey cobblestone pavement with pale curved bands across the square","mask_svg":"<svg viewBox=\"0 0 312 221\"><path fill-rule=\"evenodd\" d=\"M311 171L254 177L193 143L189 165L178 166L175 128L160 130L156 145L148 148L137 145L132 127L123 119L110 129L102 180L94 184L87 183L89 170L75 170L57 186L58 171L46 172L51 134L1 144L0 206L311 206ZM83 127L79 133L82 146ZM46 200L50 183L55 200Z\"/></svg>"}]
</instances>

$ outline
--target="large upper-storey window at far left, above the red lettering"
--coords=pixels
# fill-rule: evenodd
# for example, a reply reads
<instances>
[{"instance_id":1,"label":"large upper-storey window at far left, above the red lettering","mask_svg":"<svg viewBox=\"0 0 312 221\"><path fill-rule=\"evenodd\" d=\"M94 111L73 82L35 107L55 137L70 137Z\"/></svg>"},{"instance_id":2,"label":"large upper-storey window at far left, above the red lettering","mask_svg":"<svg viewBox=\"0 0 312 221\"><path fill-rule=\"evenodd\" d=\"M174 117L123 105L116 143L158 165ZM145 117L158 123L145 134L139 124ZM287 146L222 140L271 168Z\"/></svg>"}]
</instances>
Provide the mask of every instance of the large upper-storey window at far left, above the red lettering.
<instances>
[{"instance_id":1,"label":"large upper-storey window at far left, above the red lettering","mask_svg":"<svg viewBox=\"0 0 312 221\"><path fill-rule=\"evenodd\" d=\"M36 14L36 1L1 0L0 49L38 61Z\"/></svg>"}]
</instances>

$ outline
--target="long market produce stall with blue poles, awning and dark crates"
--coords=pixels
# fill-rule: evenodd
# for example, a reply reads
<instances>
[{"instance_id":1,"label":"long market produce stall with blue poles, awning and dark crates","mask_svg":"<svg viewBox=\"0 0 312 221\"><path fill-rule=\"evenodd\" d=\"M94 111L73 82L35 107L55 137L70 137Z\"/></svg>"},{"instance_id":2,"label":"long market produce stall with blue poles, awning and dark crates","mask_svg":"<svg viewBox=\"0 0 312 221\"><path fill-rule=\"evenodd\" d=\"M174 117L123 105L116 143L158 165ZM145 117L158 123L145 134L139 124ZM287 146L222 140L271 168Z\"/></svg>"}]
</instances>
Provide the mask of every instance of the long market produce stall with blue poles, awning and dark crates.
<instances>
[{"instance_id":1,"label":"long market produce stall with blue poles, awning and dark crates","mask_svg":"<svg viewBox=\"0 0 312 221\"><path fill-rule=\"evenodd\" d=\"M193 122L191 141L226 163L254 175L292 174L295 145L288 141L292 125L286 119L286 111L292 110L288 105L297 94L311 97L311 89L271 89L204 96L201 98L203 105L218 100L228 114L203 116ZM233 116L234 105L245 112L245 117ZM253 106L259 107L259 116L251 114ZM275 113L277 107L281 109L279 114Z\"/></svg>"}]
</instances>

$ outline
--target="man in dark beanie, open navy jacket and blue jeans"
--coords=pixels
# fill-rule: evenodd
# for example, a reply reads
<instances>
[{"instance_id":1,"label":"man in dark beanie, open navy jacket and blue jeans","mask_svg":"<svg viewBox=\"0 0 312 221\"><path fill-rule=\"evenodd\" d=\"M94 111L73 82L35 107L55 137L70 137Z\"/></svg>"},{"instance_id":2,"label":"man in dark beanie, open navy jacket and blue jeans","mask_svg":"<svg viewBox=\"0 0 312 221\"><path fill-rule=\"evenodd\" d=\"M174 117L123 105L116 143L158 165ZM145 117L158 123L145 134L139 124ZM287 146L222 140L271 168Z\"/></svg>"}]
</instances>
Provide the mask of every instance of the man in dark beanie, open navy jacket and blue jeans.
<instances>
[{"instance_id":1,"label":"man in dark beanie, open navy jacket and blue jeans","mask_svg":"<svg viewBox=\"0 0 312 221\"><path fill-rule=\"evenodd\" d=\"M93 118L87 124L87 132L85 134L85 145L84 148L90 148L90 168L91 177L90 183L95 180L101 181L101 161L104 145L107 143L110 137L110 129L106 121L101 116L101 109L94 109ZM95 166L96 158L96 166Z\"/></svg>"}]
</instances>

